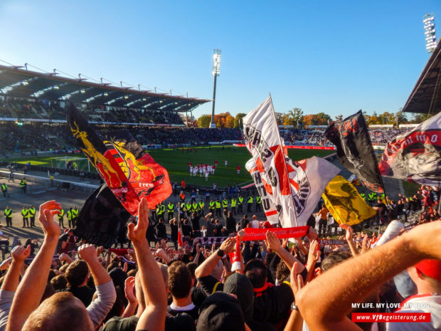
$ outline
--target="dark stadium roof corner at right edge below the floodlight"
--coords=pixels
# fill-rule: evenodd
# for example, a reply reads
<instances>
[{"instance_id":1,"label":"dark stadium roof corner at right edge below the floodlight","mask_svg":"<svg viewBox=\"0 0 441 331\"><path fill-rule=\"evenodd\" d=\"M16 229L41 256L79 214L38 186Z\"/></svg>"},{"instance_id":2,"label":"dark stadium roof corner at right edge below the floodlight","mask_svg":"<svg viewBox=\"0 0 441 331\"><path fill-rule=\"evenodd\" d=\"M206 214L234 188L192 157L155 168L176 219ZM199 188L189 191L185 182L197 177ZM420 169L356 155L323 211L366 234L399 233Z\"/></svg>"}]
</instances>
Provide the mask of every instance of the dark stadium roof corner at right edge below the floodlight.
<instances>
[{"instance_id":1,"label":"dark stadium roof corner at right edge below the floodlight","mask_svg":"<svg viewBox=\"0 0 441 331\"><path fill-rule=\"evenodd\" d=\"M410 93L403 112L436 114L441 110L441 39Z\"/></svg>"}]
</instances>

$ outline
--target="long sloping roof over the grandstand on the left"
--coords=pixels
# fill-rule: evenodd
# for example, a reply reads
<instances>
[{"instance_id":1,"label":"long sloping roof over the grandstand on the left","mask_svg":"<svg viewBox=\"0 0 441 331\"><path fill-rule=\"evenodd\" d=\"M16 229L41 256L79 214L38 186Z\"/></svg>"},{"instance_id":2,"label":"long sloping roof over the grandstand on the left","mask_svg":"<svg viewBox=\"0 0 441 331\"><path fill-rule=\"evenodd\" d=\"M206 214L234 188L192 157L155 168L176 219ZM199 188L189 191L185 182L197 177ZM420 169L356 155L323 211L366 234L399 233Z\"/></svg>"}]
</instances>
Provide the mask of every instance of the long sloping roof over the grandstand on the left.
<instances>
[{"instance_id":1,"label":"long sloping roof over the grandstand on the left","mask_svg":"<svg viewBox=\"0 0 441 331\"><path fill-rule=\"evenodd\" d=\"M211 101L117 87L110 83L92 83L84 78L59 77L55 70L54 73L38 73L5 65L0 65L0 95L174 112L191 111Z\"/></svg>"}]
</instances>

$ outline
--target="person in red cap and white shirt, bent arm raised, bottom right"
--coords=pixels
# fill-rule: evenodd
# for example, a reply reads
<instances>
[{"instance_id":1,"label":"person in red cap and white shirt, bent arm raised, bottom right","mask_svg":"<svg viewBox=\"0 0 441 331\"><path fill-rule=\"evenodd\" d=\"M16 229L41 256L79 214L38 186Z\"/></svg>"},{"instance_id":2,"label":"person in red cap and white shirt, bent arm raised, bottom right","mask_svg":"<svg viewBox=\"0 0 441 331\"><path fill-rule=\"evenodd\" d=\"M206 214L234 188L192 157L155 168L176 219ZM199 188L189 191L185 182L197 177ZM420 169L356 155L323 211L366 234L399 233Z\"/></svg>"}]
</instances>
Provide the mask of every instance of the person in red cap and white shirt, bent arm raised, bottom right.
<instances>
[{"instance_id":1,"label":"person in red cap and white shirt, bent arm raised, bottom right","mask_svg":"<svg viewBox=\"0 0 441 331\"><path fill-rule=\"evenodd\" d=\"M311 331L360 330L350 319L354 315L348 317L353 303L362 302L379 285L407 269L418 294L401 303L397 314L427 312L430 320L389 322L387 330L441 330L440 245L441 221L415 226L314 278L297 293L297 308Z\"/></svg>"}]
</instances>

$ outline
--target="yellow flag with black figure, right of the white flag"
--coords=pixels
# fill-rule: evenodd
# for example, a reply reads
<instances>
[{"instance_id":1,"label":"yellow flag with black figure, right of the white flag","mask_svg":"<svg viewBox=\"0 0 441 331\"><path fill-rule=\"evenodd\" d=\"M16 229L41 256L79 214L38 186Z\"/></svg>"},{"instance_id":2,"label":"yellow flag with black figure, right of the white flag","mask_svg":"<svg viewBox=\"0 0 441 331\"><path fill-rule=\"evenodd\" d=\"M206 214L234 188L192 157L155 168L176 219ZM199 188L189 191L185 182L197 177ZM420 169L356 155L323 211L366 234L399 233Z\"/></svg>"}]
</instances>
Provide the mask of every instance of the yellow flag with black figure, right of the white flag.
<instances>
[{"instance_id":1,"label":"yellow flag with black figure, right of the white flag","mask_svg":"<svg viewBox=\"0 0 441 331\"><path fill-rule=\"evenodd\" d=\"M355 225L376 214L356 188L341 176L328 183L322 194L324 203L338 224Z\"/></svg>"}]
</instances>

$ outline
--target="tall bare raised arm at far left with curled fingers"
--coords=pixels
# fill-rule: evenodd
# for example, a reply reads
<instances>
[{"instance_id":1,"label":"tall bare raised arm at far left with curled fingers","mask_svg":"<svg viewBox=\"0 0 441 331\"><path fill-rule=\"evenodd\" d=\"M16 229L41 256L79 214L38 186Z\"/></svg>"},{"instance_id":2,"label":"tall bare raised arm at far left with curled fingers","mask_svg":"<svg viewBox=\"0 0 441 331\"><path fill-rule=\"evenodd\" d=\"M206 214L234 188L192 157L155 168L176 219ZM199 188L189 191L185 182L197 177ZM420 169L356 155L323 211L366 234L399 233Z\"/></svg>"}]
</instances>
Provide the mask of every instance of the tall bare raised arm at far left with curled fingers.
<instances>
[{"instance_id":1,"label":"tall bare raised arm at far left with curled fingers","mask_svg":"<svg viewBox=\"0 0 441 331\"><path fill-rule=\"evenodd\" d=\"M36 258L26 271L12 302L11 314L6 331L20 331L28 316L38 308L46 289L53 253L60 236L60 227L53 221L55 214L60 214L61 205L56 201L47 201L40 206L38 220L44 231L44 241Z\"/></svg>"}]
</instances>

